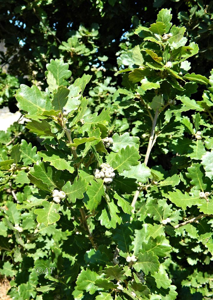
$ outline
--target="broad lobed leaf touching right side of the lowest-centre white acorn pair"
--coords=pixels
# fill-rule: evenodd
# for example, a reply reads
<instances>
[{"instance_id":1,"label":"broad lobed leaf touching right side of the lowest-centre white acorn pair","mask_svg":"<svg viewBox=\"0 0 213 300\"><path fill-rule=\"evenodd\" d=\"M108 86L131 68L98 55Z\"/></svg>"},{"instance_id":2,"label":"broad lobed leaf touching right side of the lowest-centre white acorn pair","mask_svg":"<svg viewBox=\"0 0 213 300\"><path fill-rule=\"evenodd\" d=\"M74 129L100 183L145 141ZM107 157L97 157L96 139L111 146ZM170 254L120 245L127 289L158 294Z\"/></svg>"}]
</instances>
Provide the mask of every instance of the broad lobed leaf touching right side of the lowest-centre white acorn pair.
<instances>
[{"instance_id":1,"label":"broad lobed leaf touching right side of the lowest-centre white acorn pair","mask_svg":"<svg viewBox=\"0 0 213 300\"><path fill-rule=\"evenodd\" d=\"M145 275L149 272L154 274L155 271L158 271L159 266L158 256L155 256L152 251L145 251L143 254L139 252L138 261L133 265L137 272L142 270Z\"/></svg>"}]
</instances>

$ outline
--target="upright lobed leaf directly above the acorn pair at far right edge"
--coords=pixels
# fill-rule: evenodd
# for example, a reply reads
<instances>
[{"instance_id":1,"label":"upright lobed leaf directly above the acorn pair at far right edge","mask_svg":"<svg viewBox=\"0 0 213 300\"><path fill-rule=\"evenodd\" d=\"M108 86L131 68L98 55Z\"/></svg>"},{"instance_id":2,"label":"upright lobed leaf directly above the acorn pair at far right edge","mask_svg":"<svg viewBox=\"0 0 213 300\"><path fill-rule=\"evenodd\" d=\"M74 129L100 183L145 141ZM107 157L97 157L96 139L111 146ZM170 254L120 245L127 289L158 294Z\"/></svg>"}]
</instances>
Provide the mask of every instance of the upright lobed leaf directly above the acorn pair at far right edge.
<instances>
[{"instance_id":1,"label":"upright lobed leaf directly above the acorn pair at far right edge","mask_svg":"<svg viewBox=\"0 0 213 300\"><path fill-rule=\"evenodd\" d=\"M186 174L186 177L192 179L190 183L194 185L197 190L206 190L207 184L205 183L203 167L199 163L192 164L191 167L187 168L187 171L188 174Z\"/></svg>"}]
</instances>

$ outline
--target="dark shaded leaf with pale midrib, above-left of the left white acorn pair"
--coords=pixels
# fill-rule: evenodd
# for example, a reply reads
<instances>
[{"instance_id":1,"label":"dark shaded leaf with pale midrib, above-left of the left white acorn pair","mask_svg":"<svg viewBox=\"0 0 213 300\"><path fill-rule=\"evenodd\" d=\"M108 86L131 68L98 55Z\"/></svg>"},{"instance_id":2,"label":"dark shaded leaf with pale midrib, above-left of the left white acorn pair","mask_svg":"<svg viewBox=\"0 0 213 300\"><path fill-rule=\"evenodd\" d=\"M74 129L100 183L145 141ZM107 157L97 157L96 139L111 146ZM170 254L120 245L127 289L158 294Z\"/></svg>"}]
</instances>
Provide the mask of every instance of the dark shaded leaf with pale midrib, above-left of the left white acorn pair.
<instances>
[{"instance_id":1,"label":"dark shaded leaf with pale midrib, above-left of the left white acorn pair","mask_svg":"<svg viewBox=\"0 0 213 300\"><path fill-rule=\"evenodd\" d=\"M51 191L55 190L57 187L61 189L64 185L64 180L60 179L61 171L57 171L54 167L43 161L38 161L37 164L34 164L33 168L31 168L28 173L28 177L31 180L30 175L41 180Z\"/></svg>"}]
</instances>

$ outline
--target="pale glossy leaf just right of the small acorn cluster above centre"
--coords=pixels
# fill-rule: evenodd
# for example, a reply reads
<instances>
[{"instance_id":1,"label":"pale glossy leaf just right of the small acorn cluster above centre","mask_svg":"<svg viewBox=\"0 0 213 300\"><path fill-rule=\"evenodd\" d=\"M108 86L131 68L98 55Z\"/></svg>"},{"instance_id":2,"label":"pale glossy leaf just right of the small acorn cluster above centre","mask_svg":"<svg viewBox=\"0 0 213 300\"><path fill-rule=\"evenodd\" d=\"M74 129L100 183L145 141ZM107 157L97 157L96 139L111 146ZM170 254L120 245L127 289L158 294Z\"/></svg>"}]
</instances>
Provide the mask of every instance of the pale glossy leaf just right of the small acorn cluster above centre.
<instances>
[{"instance_id":1,"label":"pale glossy leaf just right of the small acorn cluster above centre","mask_svg":"<svg viewBox=\"0 0 213 300\"><path fill-rule=\"evenodd\" d=\"M119 152L120 149L126 148L127 146L134 146L137 150L139 149L139 137L131 137L129 135L129 132L125 132L121 136L119 134L115 133L112 136L113 139L113 145L111 149L114 152Z\"/></svg>"}]
</instances>

